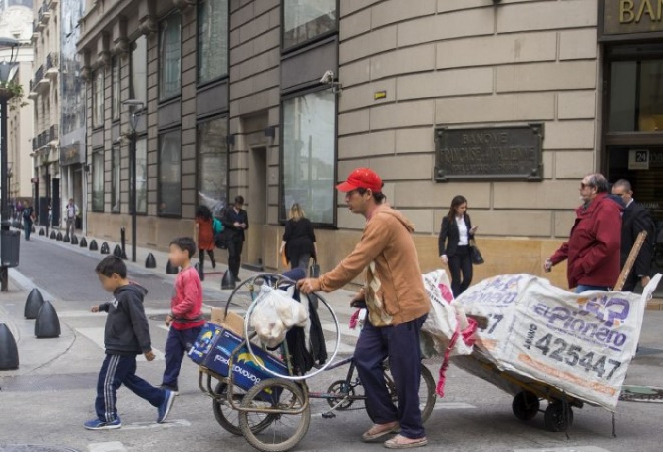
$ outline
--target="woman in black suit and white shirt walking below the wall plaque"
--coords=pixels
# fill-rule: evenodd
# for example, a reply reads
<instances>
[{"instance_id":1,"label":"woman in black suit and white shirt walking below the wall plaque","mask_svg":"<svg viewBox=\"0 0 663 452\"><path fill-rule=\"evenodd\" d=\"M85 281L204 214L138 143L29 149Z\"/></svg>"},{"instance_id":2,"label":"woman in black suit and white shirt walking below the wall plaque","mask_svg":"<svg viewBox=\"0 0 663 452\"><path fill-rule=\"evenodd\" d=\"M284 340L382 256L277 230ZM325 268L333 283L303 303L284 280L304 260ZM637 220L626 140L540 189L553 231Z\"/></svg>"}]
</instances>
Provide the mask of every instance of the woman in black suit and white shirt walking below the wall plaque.
<instances>
[{"instance_id":1,"label":"woman in black suit and white shirt walking below the wall plaque","mask_svg":"<svg viewBox=\"0 0 663 452\"><path fill-rule=\"evenodd\" d=\"M472 259L469 242L473 239L478 226L472 227L467 215L467 199L462 196L453 198L449 214L442 219L440 231L440 259L449 264L452 272L453 296L457 297L472 282ZM461 273L463 274L461 280Z\"/></svg>"}]
</instances>

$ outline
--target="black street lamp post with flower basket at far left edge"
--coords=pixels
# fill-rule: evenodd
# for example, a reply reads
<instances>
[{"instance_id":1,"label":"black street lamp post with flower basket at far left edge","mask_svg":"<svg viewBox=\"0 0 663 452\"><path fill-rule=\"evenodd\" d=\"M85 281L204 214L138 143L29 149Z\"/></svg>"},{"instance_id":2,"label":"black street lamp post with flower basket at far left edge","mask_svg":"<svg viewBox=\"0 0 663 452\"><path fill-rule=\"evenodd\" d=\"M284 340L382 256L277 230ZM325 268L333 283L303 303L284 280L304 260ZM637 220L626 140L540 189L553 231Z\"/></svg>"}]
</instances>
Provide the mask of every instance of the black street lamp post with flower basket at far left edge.
<instances>
[{"instance_id":1,"label":"black street lamp post with flower basket at far left edge","mask_svg":"<svg viewBox=\"0 0 663 452\"><path fill-rule=\"evenodd\" d=\"M13 96L9 91L7 84L11 82L16 75L16 61L19 56L19 41L12 38L0 38L0 50L11 50L9 61L4 60L0 63L0 231L1 234L9 233L11 220L9 219L9 166L7 164L7 102ZM5 232L7 231L7 232ZM0 290L7 292L9 290L9 267L5 265L3 259L0 265Z\"/></svg>"}]
</instances>

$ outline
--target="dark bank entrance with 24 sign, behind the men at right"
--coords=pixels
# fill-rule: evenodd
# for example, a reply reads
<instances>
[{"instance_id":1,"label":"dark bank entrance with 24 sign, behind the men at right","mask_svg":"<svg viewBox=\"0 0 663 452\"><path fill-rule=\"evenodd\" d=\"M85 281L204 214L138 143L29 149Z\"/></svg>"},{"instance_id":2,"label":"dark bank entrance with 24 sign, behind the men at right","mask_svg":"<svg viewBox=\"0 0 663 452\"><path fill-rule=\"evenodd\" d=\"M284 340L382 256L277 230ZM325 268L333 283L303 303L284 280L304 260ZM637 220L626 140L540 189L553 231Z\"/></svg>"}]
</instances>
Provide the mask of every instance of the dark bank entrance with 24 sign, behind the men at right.
<instances>
[{"instance_id":1,"label":"dark bank entrance with 24 sign, behind the men at right","mask_svg":"<svg viewBox=\"0 0 663 452\"><path fill-rule=\"evenodd\" d=\"M611 46L604 54L602 170L611 183L631 182L633 198L663 231L663 44Z\"/></svg>"}]
</instances>

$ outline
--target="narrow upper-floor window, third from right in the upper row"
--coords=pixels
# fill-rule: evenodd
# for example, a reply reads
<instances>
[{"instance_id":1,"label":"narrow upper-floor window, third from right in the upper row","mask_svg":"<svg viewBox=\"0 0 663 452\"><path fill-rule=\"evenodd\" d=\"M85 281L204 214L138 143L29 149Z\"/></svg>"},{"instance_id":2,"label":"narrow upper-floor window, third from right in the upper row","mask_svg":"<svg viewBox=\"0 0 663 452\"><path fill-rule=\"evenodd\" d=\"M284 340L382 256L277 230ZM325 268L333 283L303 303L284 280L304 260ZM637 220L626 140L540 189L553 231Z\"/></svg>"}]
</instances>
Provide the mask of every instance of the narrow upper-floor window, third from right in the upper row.
<instances>
[{"instance_id":1,"label":"narrow upper-floor window, third from right in the upper row","mask_svg":"<svg viewBox=\"0 0 663 452\"><path fill-rule=\"evenodd\" d=\"M160 74L159 99L168 99L180 93L182 45L182 15L171 14L161 21L159 36Z\"/></svg>"}]
</instances>

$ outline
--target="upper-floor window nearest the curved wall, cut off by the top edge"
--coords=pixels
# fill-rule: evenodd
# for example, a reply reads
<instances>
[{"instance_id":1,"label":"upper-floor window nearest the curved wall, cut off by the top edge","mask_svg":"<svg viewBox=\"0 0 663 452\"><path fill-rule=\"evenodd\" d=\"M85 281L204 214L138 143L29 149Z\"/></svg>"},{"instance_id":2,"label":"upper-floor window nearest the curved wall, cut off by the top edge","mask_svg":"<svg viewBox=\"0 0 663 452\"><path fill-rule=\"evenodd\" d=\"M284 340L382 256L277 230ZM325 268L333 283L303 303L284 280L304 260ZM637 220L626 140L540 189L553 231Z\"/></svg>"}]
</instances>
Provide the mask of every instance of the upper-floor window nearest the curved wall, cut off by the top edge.
<instances>
[{"instance_id":1,"label":"upper-floor window nearest the curved wall, cut off by the top edge","mask_svg":"<svg viewBox=\"0 0 663 452\"><path fill-rule=\"evenodd\" d=\"M284 0L284 49L335 29L336 0Z\"/></svg>"}]
</instances>

